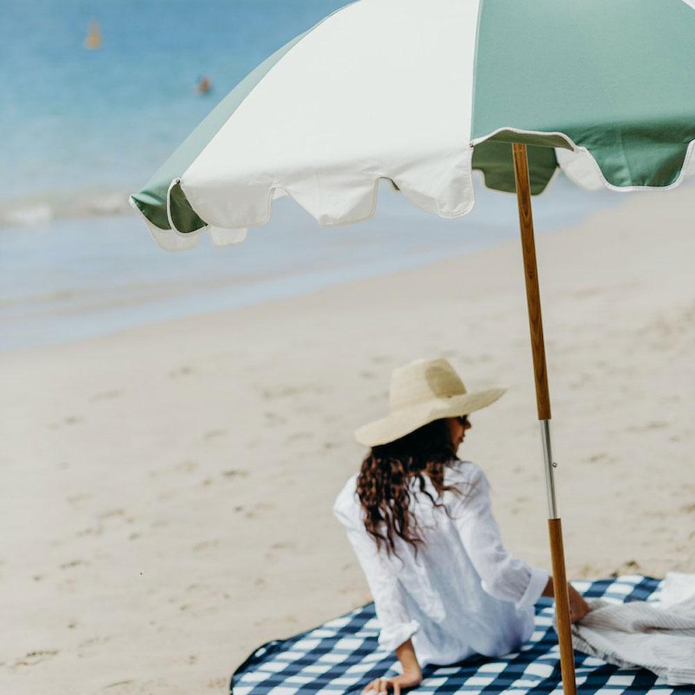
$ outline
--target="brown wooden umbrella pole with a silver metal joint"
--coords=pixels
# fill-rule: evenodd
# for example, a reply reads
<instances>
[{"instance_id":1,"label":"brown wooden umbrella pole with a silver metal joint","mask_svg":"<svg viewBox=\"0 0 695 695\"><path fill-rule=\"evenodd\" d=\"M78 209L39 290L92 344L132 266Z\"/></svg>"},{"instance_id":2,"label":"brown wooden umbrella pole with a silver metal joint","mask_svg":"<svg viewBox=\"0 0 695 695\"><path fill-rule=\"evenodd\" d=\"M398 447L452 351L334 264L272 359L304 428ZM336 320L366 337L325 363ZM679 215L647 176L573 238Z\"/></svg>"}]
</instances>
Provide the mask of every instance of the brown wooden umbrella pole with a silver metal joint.
<instances>
[{"instance_id":1,"label":"brown wooden umbrella pole with a silver metal joint","mask_svg":"<svg viewBox=\"0 0 695 695\"><path fill-rule=\"evenodd\" d=\"M516 200L518 202L519 227L521 229L521 250L523 252L526 280L526 302L528 304L533 371L536 381L536 404L538 407L538 419L541 423L543 463L546 473L548 533L550 535L550 555L553 559L553 589L555 594L555 612L557 614L560 667L562 668L562 688L565 695L576 695L574 652L572 649L571 623L569 619L569 593L562 547L562 523L557 515L555 482L553 480L553 468L557 464L553 461L553 450L550 441L550 394L548 392L546 346L543 341L543 320L541 318L541 295L538 287L536 245L533 237L528 156L526 154L526 145L518 145L515 142L512 145L512 149L514 152L514 179L516 180Z\"/></svg>"}]
</instances>

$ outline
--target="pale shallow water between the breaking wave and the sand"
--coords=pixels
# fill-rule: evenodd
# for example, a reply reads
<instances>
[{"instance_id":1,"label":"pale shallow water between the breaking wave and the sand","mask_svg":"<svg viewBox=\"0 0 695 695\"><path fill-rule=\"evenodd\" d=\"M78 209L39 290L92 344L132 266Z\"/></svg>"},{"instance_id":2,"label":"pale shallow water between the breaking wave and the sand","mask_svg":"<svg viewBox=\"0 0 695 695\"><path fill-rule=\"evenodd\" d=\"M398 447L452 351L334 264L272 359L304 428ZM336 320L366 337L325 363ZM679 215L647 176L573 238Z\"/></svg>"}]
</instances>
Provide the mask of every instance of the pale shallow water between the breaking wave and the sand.
<instances>
[{"instance_id":1,"label":"pale shallow water between the breaking wave and the sand","mask_svg":"<svg viewBox=\"0 0 695 695\"><path fill-rule=\"evenodd\" d=\"M478 194L472 213L441 220L384 186L373 220L336 230L320 229L295 203L281 200L271 222L251 230L244 244L214 249L204 235L182 254L159 250L134 214L6 229L0 351L306 295L515 240L515 197L482 186ZM576 222L629 202L559 179L537 199L537 232L552 234L566 216Z\"/></svg>"}]
</instances>

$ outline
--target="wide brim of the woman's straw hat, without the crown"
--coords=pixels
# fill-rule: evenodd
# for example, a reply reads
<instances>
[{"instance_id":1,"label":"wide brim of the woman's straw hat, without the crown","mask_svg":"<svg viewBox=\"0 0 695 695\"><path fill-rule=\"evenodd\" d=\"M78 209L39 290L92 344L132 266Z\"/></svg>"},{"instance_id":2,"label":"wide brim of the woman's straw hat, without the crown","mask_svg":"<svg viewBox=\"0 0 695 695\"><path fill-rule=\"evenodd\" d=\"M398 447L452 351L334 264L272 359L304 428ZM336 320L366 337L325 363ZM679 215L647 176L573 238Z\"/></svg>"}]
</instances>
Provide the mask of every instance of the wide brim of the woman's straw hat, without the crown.
<instances>
[{"instance_id":1,"label":"wide brim of the woman's straw hat, without the crown","mask_svg":"<svg viewBox=\"0 0 695 695\"><path fill-rule=\"evenodd\" d=\"M415 432L441 418L468 415L493 404L507 389L487 389L475 393L461 393L450 398L434 398L409 408L400 408L385 418L363 425L355 430L354 436L365 446L378 446Z\"/></svg>"}]
</instances>

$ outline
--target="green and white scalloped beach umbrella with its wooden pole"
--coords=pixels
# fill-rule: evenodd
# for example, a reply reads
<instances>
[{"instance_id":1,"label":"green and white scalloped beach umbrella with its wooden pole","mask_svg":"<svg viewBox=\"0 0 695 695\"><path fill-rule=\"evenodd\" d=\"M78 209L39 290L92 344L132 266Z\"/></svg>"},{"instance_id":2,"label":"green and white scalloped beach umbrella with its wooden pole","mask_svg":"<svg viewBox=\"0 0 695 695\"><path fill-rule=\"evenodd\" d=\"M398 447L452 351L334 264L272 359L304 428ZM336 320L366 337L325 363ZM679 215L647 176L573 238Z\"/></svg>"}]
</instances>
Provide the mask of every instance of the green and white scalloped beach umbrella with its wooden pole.
<instances>
[{"instance_id":1,"label":"green and white scalloped beach umbrella with its wooden pole","mask_svg":"<svg viewBox=\"0 0 695 695\"><path fill-rule=\"evenodd\" d=\"M564 692L575 692L532 194L671 188L695 173L693 0L359 0L286 44L131 197L167 250L238 243L292 197L364 220L379 181L443 218L473 170L516 191Z\"/></svg>"}]
</instances>

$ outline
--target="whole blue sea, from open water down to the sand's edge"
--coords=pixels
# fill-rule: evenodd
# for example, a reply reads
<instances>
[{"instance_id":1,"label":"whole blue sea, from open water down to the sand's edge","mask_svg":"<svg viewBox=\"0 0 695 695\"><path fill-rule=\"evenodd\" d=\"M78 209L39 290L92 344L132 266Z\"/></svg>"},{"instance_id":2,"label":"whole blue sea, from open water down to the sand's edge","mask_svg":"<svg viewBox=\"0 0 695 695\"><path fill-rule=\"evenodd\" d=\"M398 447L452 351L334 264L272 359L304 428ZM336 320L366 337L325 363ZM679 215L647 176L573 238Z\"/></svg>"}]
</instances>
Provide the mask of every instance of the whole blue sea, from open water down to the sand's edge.
<instances>
[{"instance_id":1,"label":"whole blue sea, from open water down to the sand's edge","mask_svg":"<svg viewBox=\"0 0 695 695\"><path fill-rule=\"evenodd\" d=\"M334 0L3 0L0 5L0 349L316 291L516 238L516 200L480 185L440 220L382 188L375 218L337 229L291 201L240 247L167 254L126 204L266 56ZM101 47L85 48L90 22ZM211 91L195 85L206 76ZM558 177L540 233L622 196Z\"/></svg>"}]
</instances>

